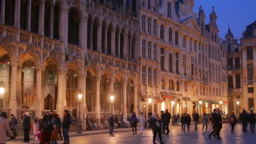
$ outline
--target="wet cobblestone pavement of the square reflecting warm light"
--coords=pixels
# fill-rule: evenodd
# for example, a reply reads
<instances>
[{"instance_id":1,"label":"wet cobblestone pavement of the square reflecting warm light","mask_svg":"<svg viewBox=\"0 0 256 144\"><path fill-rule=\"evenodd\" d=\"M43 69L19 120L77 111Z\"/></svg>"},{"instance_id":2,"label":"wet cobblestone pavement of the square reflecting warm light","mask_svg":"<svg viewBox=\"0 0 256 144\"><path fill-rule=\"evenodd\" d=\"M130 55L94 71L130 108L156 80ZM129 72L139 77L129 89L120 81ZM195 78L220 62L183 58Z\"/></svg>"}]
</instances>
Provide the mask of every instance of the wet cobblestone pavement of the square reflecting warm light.
<instances>
[{"instance_id":1,"label":"wet cobblestone pavement of the square reflecting warm light","mask_svg":"<svg viewBox=\"0 0 256 144\"><path fill-rule=\"evenodd\" d=\"M169 135L163 136L165 144L255 144L256 133L242 133L242 125L238 123L235 126L235 133L231 133L229 124L224 124L221 130L222 140L217 140L213 136L208 138L212 131L212 126L208 126L208 131L202 131L202 124L198 125L198 130L194 131L195 125L190 126L190 132L181 132L181 126L170 125L171 132ZM250 129L248 125L248 130ZM107 130L106 130L107 131ZM74 136L70 138L70 144L152 144L152 130L145 130L142 135L133 135L132 131L117 132L114 135L108 133L91 134L87 136ZM157 139L156 142L160 144ZM21 141L8 141L6 144L20 144ZM38 144L30 141L31 144ZM63 141L58 141L59 144Z\"/></svg>"}]
</instances>

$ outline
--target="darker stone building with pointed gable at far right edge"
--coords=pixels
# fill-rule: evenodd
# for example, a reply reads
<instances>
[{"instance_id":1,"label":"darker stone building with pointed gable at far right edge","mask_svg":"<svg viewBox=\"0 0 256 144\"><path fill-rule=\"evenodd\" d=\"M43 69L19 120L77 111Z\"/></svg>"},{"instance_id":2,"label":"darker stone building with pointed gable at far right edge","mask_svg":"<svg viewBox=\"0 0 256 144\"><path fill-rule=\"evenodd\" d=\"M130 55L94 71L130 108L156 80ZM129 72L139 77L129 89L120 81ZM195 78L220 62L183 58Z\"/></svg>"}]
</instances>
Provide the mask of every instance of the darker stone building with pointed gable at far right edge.
<instances>
[{"instance_id":1,"label":"darker stone building with pointed gable at far right edge","mask_svg":"<svg viewBox=\"0 0 256 144\"><path fill-rule=\"evenodd\" d=\"M229 111L255 109L256 21L246 26L241 44L230 29L223 46L227 50ZM239 101L239 103L237 103Z\"/></svg>"}]
</instances>

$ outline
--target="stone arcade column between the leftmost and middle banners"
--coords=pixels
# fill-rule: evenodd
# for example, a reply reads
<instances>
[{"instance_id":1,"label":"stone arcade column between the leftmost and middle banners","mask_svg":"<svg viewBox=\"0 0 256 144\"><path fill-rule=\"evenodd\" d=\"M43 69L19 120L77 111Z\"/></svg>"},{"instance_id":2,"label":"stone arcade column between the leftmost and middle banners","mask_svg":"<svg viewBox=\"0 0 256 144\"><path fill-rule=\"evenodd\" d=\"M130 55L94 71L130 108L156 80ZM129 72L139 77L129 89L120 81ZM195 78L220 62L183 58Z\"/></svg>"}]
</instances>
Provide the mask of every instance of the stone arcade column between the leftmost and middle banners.
<instances>
[{"instance_id":1,"label":"stone arcade column between the leftmost and middle banners","mask_svg":"<svg viewBox=\"0 0 256 144\"><path fill-rule=\"evenodd\" d=\"M11 93L10 93L10 105L11 114L17 115L17 96L16 96L16 86L17 86L17 66L19 63L17 61L11 61Z\"/></svg>"}]
</instances>

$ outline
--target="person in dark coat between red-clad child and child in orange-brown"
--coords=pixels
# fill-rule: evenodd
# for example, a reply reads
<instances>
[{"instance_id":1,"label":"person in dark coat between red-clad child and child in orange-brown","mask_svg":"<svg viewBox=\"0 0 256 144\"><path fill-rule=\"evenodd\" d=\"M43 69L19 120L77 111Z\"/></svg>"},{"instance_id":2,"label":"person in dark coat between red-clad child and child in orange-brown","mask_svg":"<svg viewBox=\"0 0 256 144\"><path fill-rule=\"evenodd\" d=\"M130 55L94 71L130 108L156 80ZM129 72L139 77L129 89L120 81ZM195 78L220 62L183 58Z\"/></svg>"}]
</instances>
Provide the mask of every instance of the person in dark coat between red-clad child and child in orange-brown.
<instances>
[{"instance_id":1,"label":"person in dark coat between red-clad child and child in orange-brown","mask_svg":"<svg viewBox=\"0 0 256 144\"><path fill-rule=\"evenodd\" d=\"M43 116L43 120L40 122L40 131L42 134L42 144L51 143L51 133L53 131L53 125L49 120L48 115Z\"/></svg>"}]
</instances>

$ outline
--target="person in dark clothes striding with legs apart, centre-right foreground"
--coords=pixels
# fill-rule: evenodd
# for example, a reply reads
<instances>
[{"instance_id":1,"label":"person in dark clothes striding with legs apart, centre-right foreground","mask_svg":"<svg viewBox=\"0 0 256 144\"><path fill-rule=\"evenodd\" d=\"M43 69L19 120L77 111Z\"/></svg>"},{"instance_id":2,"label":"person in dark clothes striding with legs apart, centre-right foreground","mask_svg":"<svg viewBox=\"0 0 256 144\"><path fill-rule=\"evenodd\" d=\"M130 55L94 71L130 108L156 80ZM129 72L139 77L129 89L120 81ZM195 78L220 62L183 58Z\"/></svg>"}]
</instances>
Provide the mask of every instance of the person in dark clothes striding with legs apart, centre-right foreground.
<instances>
[{"instance_id":1,"label":"person in dark clothes striding with legs apart, centre-right foreground","mask_svg":"<svg viewBox=\"0 0 256 144\"><path fill-rule=\"evenodd\" d=\"M160 139L160 144L164 144L164 142L162 140L162 135L161 135L160 119L157 120L155 117L152 117L152 112L149 112L148 116L149 116L149 120L147 120L147 121L148 121L148 123L150 123L152 131L153 131L153 143L156 144L155 138L156 138L157 133L158 133L158 136L159 136L159 139Z\"/></svg>"}]
</instances>

